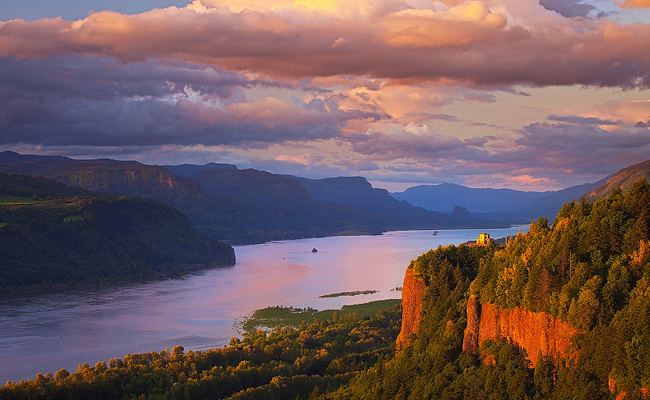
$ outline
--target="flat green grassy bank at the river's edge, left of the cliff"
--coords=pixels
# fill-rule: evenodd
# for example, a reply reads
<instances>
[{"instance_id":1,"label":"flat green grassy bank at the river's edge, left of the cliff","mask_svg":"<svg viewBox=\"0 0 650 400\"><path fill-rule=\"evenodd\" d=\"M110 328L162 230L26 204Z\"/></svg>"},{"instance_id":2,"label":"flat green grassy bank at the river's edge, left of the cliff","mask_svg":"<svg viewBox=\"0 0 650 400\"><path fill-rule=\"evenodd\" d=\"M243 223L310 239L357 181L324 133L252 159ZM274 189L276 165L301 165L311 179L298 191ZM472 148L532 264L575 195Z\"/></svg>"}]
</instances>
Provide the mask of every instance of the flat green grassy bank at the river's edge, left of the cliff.
<instances>
[{"instance_id":1,"label":"flat green grassy bank at the river's edge, left of the cliff","mask_svg":"<svg viewBox=\"0 0 650 400\"><path fill-rule=\"evenodd\" d=\"M322 310L318 311L313 308L294 308L284 306L266 307L256 310L249 317L235 324L240 333L255 332L258 329L272 329L278 325L280 327L293 326L299 327L304 321L311 324L314 320L319 319L333 320L336 318L362 318L370 317L379 311L388 310L393 306L400 304L399 299L378 300L363 304L354 304L343 306L340 310Z\"/></svg>"}]
</instances>

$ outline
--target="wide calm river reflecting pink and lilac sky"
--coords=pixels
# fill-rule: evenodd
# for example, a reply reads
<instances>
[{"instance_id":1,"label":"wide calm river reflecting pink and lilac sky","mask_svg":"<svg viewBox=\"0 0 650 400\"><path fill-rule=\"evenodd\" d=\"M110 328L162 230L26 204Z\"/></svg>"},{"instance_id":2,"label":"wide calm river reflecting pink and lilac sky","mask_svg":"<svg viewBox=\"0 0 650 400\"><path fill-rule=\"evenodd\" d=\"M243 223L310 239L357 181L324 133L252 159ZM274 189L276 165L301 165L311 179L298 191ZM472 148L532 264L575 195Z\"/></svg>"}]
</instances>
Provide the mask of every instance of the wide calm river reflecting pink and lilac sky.
<instances>
[{"instance_id":1,"label":"wide calm river reflecting pink and lilac sky","mask_svg":"<svg viewBox=\"0 0 650 400\"><path fill-rule=\"evenodd\" d=\"M519 229L492 229L494 238ZM0 301L0 382L79 364L182 345L226 345L256 309L340 308L400 298L409 262L438 245L474 240L481 230L388 232L235 247L237 265L180 279L73 290ZM312 248L318 252L312 253ZM378 293L318 298L344 291Z\"/></svg>"}]
</instances>

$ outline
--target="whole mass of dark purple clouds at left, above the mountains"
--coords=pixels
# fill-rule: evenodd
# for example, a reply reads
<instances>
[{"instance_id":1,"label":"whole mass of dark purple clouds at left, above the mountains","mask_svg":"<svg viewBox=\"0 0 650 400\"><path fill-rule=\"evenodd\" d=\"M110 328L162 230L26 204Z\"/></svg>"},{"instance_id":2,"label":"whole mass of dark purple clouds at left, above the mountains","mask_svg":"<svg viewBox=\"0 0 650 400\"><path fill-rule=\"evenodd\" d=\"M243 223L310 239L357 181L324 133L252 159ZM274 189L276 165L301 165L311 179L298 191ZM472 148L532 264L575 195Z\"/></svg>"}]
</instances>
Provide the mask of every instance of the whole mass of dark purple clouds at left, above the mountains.
<instances>
[{"instance_id":1,"label":"whole mass of dark purple clouds at left, above the mountains","mask_svg":"<svg viewBox=\"0 0 650 400\"><path fill-rule=\"evenodd\" d=\"M261 81L186 63L110 57L0 58L0 144L264 147L339 135L382 116L335 101L247 101Z\"/></svg>"}]
</instances>

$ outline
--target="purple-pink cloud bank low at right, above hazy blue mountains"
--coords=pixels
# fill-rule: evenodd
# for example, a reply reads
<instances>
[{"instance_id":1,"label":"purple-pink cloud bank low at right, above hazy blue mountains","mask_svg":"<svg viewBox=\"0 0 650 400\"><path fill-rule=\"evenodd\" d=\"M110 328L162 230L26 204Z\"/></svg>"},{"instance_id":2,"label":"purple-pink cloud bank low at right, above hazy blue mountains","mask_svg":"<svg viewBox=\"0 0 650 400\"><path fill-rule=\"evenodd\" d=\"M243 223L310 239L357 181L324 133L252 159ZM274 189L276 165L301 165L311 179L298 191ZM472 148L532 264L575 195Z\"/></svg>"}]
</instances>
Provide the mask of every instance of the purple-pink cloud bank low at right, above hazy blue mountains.
<instances>
[{"instance_id":1,"label":"purple-pink cloud bank low at right, above hazy blue mountains","mask_svg":"<svg viewBox=\"0 0 650 400\"><path fill-rule=\"evenodd\" d=\"M647 128L623 125L610 132L607 121L565 118L557 124L535 123L513 135L460 140L426 125L387 125L347 137L353 153L378 169L369 179L409 182L446 181L474 186L558 188L595 182L632 163L647 159ZM605 124L600 124L605 122Z\"/></svg>"}]
</instances>

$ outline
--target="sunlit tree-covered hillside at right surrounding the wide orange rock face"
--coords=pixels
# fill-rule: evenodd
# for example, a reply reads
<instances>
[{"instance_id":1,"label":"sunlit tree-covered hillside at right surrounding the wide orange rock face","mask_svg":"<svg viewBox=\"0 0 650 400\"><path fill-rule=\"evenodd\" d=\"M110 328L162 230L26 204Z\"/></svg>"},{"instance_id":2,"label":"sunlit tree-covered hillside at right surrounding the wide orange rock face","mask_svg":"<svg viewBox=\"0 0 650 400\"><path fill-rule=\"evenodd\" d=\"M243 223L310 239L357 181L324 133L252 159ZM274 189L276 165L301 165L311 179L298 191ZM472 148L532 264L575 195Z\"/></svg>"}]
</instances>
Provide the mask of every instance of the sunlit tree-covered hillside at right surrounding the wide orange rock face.
<instances>
[{"instance_id":1,"label":"sunlit tree-covered hillside at right surrounding the wide orange rock face","mask_svg":"<svg viewBox=\"0 0 650 400\"><path fill-rule=\"evenodd\" d=\"M409 267L426 283L417 334L394 360L327 397L643 398L650 388L649 216L650 185L641 180L625 196L614 190L593 204L569 203L552 226L540 219L505 248L424 254ZM498 332L479 351L463 351L470 295L491 308L556 317L579 333L564 358L533 357L525 343Z\"/></svg>"}]
</instances>

